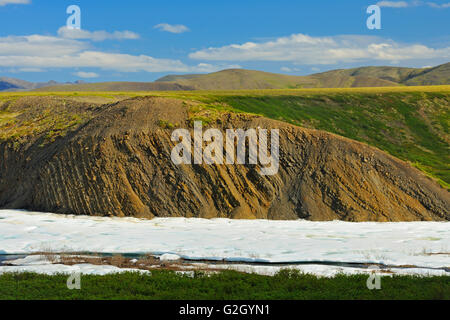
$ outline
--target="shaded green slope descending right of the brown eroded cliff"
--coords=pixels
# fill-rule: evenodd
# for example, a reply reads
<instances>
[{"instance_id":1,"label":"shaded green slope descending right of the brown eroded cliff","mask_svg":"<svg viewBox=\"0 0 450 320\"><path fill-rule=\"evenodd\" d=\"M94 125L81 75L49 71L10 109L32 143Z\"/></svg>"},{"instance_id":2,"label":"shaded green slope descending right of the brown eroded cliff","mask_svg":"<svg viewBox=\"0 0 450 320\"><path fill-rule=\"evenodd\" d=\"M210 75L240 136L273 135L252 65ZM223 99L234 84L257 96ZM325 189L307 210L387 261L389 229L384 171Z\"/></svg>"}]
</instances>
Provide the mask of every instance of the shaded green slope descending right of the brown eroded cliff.
<instances>
[{"instance_id":1,"label":"shaded green slope descending right of the brown eroded cliff","mask_svg":"<svg viewBox=\"0 0 450 320\"><path fill-rule=\"evenodd\" d=\"M366 142L450 187L450 93L225 96L234 110Z\"/></svg>"}]
</instances>

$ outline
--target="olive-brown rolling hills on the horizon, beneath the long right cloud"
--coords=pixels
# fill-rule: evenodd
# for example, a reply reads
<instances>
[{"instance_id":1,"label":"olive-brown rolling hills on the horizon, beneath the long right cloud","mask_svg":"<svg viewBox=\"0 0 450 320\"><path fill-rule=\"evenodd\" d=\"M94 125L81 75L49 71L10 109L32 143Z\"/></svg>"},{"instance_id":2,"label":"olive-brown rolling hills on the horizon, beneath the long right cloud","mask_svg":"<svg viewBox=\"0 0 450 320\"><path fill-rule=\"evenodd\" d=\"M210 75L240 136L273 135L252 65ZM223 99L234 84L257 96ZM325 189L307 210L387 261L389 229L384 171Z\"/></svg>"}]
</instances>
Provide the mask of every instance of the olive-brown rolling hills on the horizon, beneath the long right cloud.
<instances>
[{"instance_id":1,"label":"olive-brown rolling hills on the horizon, beneath the long right cloud","mask_svg":"<svg viewBox=\"0 0 450 320\"><path fill-rule=\"evenodd\" d=\"M170 75L158 83L178 83L197 90L395 87L450 83L450 63L435 68L361 67L309 76L230 69L206 75Z\"/></svg>"}]
</instances>

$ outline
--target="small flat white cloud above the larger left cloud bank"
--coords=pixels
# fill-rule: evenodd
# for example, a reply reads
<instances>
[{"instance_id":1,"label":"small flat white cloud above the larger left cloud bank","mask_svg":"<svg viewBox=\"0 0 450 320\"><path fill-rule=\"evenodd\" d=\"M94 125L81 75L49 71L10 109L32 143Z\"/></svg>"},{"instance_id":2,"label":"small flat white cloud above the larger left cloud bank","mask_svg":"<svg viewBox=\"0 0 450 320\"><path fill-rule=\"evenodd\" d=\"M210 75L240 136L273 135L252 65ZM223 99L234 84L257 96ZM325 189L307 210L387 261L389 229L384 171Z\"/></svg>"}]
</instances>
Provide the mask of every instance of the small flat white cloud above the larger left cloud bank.
<instances>
[{"instance_id":1,"label":"small flat white cloud above the larger left cloud bank","mask_svg":"<svg viewBox=\"0 0 450 320\"><path fill-rule=\"evenodd\" d=\"M61 27L58 30L58 35L65 39L89 39L92 41L103 41L103 40L123 40L123 39L139 39L137 33L131 31L114 31L109 33L106 31L87 31L81 29L69 29L67 27Z\"/></svg>"}]
</instances>

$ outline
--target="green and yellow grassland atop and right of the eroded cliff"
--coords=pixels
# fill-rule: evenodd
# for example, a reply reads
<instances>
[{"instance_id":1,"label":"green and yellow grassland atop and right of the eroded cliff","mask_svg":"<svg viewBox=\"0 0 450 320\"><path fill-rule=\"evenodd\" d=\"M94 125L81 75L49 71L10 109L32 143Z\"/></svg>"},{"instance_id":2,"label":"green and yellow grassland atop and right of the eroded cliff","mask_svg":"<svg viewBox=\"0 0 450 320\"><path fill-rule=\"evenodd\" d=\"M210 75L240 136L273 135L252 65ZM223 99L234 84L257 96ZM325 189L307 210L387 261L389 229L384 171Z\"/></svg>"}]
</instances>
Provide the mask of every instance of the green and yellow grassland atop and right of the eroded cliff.
<instances>
[{"instance_id":1,"label":"green and yellow grassland atop and right of the eroded cliff","mask_svg":"<svg viewBox=\"0 0 450 320\"><path fill-rule=\"evenodd\" d=\"M201 110L259 114L365 142L410 162L436 179L443 187L450 188L448 85L233 91L1 93L0 110L2 101L13 101L24 96L58 96L93 103L112 103L137 96L159 96L195 101L200 104ZM49 121L51 122L51 119ZM73 122L72 118L71 121L79 123ZM7 110L0 113L0 129L5 128L5 124L21 125L14 122L14 117L8 114ZM61 126L60 121L54 122ZM40 124L33 126L39 127ZM19 134L22 132L10 131ZM52 139L55 138L54 130L51 135Z\"/></svg>"}]
</instances>

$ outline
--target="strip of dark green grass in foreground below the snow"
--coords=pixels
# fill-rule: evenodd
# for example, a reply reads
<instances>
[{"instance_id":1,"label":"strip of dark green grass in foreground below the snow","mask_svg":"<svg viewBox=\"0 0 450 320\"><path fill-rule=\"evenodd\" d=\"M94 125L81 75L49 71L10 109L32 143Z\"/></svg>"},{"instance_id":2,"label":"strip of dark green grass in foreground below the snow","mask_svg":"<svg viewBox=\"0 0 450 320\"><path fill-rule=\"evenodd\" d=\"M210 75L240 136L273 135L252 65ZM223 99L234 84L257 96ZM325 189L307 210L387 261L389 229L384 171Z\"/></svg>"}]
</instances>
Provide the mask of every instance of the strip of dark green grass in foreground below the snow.
<instances>
[{"instance_id":1,"label":"strip of dark green grass in foreground below the snow","mask_svg":"<svg viewBox=\"0 0 450 320\"><path fill-rule=\"evenodd\" d=\"M369 290L367 275L317 278L282 270L275 276L223 271L193 277L173 271L152 275L122 273L81 277L81 290L68 290L67 275L32 273L0 276L0 300L449 300L450 277L381 278L381 290Z\"/></svg>"}]
</instances>

